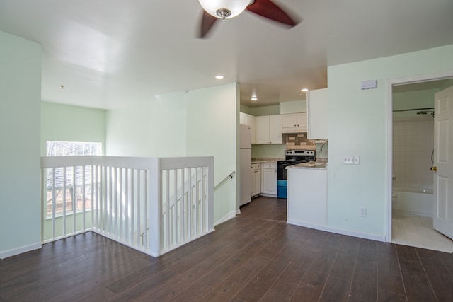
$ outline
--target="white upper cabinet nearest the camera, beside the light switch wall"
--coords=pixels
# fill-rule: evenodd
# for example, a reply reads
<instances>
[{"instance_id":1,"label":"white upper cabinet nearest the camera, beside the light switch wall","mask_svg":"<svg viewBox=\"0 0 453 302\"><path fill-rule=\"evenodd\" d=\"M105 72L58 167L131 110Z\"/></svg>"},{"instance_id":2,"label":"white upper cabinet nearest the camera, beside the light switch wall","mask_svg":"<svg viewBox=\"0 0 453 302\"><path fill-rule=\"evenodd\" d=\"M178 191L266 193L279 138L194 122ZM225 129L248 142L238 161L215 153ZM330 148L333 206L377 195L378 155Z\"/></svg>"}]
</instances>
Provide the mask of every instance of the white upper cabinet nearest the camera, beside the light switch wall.
<instances>
[{"instance_id":1,"label":"white upper cabinet nearest the camera, beside the light switch wall","mask_svg":"<svg viewBox=\"0 0 453 302\"><path fill-rule=\"evenodd\" d=\"M308 91L306 108L308 110L309 139L328 139L328 91L327 88Z\"/></svg>"}]
</instances>

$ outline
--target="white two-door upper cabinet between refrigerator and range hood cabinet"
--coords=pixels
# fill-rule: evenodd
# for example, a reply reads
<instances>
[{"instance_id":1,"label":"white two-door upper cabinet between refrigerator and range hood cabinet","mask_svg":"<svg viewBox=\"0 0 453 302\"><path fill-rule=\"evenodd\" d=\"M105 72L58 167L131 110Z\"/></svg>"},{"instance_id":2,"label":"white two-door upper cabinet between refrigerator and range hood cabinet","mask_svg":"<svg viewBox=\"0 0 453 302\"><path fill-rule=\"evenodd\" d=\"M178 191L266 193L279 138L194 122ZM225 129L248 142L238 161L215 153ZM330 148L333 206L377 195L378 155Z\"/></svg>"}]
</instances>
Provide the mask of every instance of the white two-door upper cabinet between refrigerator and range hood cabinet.
<instances>
[{"instance_id":1,"label":"white two-door upper cabinet between refrigerator and range hood cabinet","mask_svg":"<svg viewBox=\"0 0 453 302\"><path fill-rule=\"evenodd\" d=\"M256 124L256 144L282 144L281 115L257 117Z\"/></svg>"}]
</instances>

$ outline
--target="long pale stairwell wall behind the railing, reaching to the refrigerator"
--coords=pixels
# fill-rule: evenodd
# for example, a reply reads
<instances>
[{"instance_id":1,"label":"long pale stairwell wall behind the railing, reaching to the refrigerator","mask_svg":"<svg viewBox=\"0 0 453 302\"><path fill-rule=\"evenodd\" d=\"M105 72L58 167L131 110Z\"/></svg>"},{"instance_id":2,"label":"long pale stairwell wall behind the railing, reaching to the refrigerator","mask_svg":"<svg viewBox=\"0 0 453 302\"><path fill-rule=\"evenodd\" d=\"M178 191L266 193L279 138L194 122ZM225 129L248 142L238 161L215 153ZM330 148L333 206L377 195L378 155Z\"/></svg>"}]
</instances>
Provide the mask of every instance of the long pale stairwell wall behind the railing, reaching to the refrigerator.
<instances>
[{"instance_id":1,"label":"long pale stairwell wall behind the railing, reaching to the refrigerator","mask_svg":"<svg viewBox=\"0 0 453 302\"><path fill-rule=\"evenodd\" d=\"M214 185L236 170L239 95L236 83L159 95L109 110L109 156L214 156ZM214 223L236 212L236 178L214 190Z\"/></svg>"}]
</instances>

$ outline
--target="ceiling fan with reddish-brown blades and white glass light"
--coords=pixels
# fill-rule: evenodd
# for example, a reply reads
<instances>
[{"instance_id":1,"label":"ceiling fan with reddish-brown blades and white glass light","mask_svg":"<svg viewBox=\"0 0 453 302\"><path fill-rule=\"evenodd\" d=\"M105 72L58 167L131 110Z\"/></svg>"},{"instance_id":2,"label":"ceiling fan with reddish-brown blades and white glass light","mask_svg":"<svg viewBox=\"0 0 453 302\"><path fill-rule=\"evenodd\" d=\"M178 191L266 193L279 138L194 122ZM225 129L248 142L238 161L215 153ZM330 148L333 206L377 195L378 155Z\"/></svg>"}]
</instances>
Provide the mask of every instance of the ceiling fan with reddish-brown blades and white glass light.
<instances>
[{"instance_id":1,"label":"ceiling fan with reddish-brown blades and white glass light","mask_svg":"<svg viewBox=\"0 0 453 302\"><path fill-rule=\"evenodd\" d=\"M212 25L219 19L236 17L245 10L287 25L289 28L299 23L270 0L198 0L198 2L205 10L201 21L200 38L206 37Z\"/></svg>"}]
</instances>

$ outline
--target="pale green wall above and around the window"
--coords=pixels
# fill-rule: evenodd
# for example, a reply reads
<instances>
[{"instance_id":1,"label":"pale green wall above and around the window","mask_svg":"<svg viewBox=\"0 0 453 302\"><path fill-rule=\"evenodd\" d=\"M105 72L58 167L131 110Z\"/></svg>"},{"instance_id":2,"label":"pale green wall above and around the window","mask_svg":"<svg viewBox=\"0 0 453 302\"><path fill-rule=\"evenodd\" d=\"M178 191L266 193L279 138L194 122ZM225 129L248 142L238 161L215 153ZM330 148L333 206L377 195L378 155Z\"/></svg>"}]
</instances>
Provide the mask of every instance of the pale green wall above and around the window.
<instances>
[{"instance_id":1,"label":"pale green wall above and around the window","mask_svg":"<svg viewBox=\"0 0 453 302\"><path fill-rule=\"evenodd\" d=\"M105 110L41 103L41 156L46 141L101 142L105 153Z\"/></svg>"}]
</instances>

